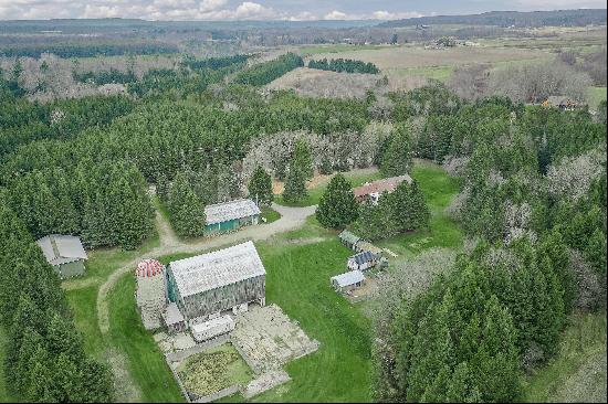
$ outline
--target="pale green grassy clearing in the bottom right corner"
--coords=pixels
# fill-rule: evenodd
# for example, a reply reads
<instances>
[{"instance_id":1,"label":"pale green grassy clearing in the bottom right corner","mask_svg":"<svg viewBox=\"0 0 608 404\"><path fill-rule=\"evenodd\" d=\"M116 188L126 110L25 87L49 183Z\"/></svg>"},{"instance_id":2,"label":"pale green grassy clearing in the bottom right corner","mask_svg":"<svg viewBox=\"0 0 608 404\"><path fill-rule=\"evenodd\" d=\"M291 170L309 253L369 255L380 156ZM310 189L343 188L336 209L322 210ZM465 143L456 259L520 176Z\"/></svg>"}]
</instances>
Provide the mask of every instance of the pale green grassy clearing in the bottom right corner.
<instances>
[{"instance_id":1,"label":"pale green grassy clearing in the bottom right corner","mask_svg":"<svg viewBox=\"0 0 608 404\"><path fill-rule=\"evenodd\" d=\"M572 316L559 353L524 379L523 400L606 402L606 312Z\"/></svg>"}]
</instances>

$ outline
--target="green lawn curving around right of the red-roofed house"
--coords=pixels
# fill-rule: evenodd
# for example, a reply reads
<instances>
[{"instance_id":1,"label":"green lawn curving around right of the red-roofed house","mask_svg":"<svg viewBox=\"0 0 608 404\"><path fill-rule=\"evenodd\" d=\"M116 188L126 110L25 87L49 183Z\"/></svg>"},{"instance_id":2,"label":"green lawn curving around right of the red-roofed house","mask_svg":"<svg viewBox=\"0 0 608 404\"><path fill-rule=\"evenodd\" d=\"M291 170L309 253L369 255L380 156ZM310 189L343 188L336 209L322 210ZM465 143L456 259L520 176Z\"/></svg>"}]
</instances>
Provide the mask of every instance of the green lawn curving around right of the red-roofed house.
<instances>
[{"instance_id":1,"label":"green lawn curving around right of the red-roofed house","mask_svg":"<svg viewBox=\"0 0 608 404\"><path fill-rule=\"evenodd\" d=\"M431 247L460 248L462 233L444 212L459 191L458 180L449 177L441 167L427 161L417 161L411 177L418 182L431 211L429 228L398 235L375 244L403 257Z\"/></svg>"}]
</instances>

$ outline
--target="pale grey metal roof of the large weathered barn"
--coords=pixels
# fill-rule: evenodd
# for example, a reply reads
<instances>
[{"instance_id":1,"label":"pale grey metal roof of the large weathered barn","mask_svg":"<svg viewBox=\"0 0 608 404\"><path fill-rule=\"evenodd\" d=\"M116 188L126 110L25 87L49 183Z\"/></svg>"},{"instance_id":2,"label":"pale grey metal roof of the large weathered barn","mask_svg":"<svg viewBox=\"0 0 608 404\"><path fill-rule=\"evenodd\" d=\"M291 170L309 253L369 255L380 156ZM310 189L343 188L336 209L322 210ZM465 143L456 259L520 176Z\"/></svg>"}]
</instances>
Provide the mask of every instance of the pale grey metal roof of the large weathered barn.
<instances>
[{"instance_id":1,"label":"pale grey metal roof of the large weathered barn","mask_svg":"<svg viewBox=\"0 0 608 404\"><path fill-rule=\"evenodd\" d=\"M169 267L182 298L266 274L251 241L174 261Z\"/></svg>"}]
</instances>

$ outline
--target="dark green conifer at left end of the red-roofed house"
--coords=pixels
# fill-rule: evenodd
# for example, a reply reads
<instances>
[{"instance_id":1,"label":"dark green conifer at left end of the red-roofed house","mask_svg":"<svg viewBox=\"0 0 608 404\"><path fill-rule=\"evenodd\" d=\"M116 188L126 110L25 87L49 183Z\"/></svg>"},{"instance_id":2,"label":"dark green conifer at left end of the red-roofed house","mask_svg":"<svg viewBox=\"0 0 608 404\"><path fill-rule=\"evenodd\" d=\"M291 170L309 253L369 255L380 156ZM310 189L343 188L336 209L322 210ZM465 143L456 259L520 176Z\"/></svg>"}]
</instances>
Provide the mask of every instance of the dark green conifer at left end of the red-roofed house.
<instances>
[{"instance_id":1,"label":"dark green conifer at left end of the red-roofed house","mask_svg":"<svg viewBox=\"0 0 608 404\"><path fill-rule=\"evenodd\" d=\"M321 196L316 217L324 227L343 228L357 219L358 210L350 183L338 173Z\"/></svg>"}]
</instances>

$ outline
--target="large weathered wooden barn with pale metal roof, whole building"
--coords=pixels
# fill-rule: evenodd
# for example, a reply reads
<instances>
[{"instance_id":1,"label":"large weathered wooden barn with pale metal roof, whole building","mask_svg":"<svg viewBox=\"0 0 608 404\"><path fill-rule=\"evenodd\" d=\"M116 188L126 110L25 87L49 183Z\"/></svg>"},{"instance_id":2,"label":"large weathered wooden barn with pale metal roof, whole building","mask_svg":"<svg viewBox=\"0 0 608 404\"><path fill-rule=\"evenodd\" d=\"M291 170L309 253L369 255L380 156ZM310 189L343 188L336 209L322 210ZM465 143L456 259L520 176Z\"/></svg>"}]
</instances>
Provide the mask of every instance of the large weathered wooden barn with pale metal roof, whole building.
<instances>
[{"instance_id":1,"label":"large weathered wooden barn with pale metal roof, whole building","mask_svg":"<svg viewBox=\"0 0 608 404\"><path fill-rule=\"evenodd\" d=\"M188 322L205 321L243 305L265 305L264 265L253 242L191 258L167 267L169 300Z\"/></svg>"}]
</instances>

